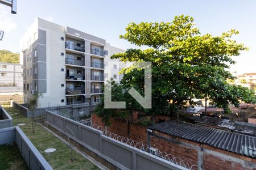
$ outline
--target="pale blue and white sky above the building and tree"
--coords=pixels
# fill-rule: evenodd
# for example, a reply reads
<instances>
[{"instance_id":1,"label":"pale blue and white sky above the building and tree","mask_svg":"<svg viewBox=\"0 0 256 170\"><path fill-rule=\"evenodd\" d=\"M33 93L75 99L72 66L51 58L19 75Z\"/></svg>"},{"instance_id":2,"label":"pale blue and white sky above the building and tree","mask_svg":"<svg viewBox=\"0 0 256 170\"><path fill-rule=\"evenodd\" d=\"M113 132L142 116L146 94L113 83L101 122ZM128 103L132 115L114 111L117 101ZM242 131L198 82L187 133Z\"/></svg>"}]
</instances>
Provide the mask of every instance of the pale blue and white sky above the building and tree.
<instances>
[{"instance_id":1,"label":"pale blue and white sky above the building and tree","mask_svg":"<svg viewBox=\"0 0 256 170\"><path fill-rule=\"evenodd\" d=\"M219 36L237 29L237 42L249 51L234 57L230 71L256 73L256 1L171 1L171 0L17 0L17 14L0 4L0 29L5 31L0 49L19 52L19 39L36 18L101 37L113 46L127 49L134 46L119 39L130 22L171 22L176 15L190 15L202 35Z\"/></svg>"}]
</instances>

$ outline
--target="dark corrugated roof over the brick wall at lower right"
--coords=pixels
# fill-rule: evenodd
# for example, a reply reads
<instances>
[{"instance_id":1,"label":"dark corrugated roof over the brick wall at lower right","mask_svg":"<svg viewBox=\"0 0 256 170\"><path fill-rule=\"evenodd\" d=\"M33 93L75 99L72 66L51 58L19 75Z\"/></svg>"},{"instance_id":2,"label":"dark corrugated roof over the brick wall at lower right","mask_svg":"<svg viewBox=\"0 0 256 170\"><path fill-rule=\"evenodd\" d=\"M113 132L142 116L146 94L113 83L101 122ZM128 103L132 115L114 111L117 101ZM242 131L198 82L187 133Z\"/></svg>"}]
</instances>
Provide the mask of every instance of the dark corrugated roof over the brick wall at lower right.
<instances>
[{"instance_id":1,"label":"dark corrugated roof over the brick wall at lower right","mask_svg":"<svg viewBox=\"0 0 256 170\"><path fill-rule=\"evenodd\" d=\"M256 137L184 122L162 122L148 129L203 143L240 155L256 157Z\"/></svg>"}]
</instances>

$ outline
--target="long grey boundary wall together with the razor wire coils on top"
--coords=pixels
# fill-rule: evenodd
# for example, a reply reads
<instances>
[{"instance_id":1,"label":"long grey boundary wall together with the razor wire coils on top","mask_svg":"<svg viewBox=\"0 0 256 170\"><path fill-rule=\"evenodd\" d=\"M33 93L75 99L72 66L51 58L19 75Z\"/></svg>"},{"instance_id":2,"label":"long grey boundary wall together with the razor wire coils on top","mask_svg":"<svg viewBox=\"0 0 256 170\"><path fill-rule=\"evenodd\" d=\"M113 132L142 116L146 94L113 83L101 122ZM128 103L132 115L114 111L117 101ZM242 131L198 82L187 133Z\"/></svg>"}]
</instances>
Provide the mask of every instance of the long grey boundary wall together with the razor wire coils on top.
<instances>
[{"instance_id":1,"label":"long grey boundary wall together with the razor wire coils on top","mask_svg":"<svg viewBox=\"0 0 256 170\"><path fill-rule=\"evenodd\" d=\"M46 112L46 123L67 133L77 143L88 148L120 169L197 169L189 160L161 152L141 142L110 133L90 121L81 121L67 114Z\"/></svg>"}]
</instances>

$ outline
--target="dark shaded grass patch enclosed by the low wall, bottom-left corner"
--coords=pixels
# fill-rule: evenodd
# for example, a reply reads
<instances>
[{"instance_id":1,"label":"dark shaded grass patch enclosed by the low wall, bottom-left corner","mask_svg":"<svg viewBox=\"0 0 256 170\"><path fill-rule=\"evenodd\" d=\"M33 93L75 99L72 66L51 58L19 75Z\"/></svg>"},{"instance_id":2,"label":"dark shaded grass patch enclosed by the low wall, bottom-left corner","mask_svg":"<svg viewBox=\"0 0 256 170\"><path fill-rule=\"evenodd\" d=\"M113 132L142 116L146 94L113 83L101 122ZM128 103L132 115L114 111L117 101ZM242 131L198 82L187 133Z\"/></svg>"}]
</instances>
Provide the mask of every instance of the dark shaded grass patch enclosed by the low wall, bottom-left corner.
<instances>
[{"instance_id":1,"label":"dark shaded grass patch enclosed by the low wall, bottom-left corner","mask_svg":"<svg viewBox=\"0 0 256 170\"><path fill-rule=\"evenodd\" d=\"M8 156L6 156L8 155ZM22 155L16 145L0 146L0 169L19 169L27 170L27 164L24 162Z\"/></svg>"}]
</instances>

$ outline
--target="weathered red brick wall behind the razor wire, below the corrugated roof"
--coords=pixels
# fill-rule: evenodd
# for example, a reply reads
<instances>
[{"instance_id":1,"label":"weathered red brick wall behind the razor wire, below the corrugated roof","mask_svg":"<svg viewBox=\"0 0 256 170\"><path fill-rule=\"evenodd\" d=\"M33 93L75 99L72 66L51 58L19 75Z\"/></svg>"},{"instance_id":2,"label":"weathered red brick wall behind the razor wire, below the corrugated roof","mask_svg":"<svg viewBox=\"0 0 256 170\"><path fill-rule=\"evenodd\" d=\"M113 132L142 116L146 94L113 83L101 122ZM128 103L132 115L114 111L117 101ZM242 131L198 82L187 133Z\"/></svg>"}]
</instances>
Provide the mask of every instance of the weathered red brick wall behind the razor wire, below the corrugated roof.
<instances>
[{"instance_id":1,"label":"weathered red brick wall behind the razor wire, below the corrugated roof","mask_svg":"<svg viewBox=\"0 0 256 170\"><path fill-rule=\"evenodd\" d=\"M167 119L168 117L156 117L160 119ZM92 122L105 127L101 122L101 118L92 114ZM111 126L107 129L112 133L128 137L127 122L124 120L117 120L111 118ZM130 139L147 143L147 127L140 126L132 123L130 126ZM200 143L188 141L182 138L172 137L170 135L154 131L154 134L160 137L150 137L150 145L154 148L158 148L162 152L167 152L174 156L179 156L181 159L187 159L192 164L199 164L199 151L203 152L201 155L203 169L254 169L256 170L256 159L249 158L247 156L234 154L225 150L221 150L208 145L200 145ZM168 139L168 140L167 140ZM207 151L207 153L206 153ZM212 154L208 154L211 152ZM215 154L218 153L218 156ZM222 156L220 156L222 155ZM237 161L239 160L239 161ZM242 163L241 163L242 162Z\"/></svg>"}]
</instances>

